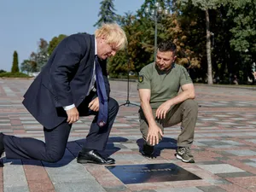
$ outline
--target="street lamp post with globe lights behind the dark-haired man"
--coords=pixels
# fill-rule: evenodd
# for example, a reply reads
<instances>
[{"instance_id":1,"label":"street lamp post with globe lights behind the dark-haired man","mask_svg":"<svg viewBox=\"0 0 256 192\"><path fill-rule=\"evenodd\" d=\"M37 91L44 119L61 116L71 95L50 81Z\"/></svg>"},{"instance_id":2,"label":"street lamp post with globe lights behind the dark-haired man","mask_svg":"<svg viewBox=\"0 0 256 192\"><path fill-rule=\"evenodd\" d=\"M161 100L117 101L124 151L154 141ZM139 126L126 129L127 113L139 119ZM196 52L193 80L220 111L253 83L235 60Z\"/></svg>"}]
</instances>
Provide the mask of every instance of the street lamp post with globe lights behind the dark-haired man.
<instances>
[{"instance_id":1,"label":"street lamp post with globe lights behind the dark-haired man","mask_svg":"<svg viewBox=\"0 0 256 192\"><path fill-rule=\"evenodd\" d=\"M154 4L154 9L146 8L145 13L151 16L151 19L154 20L154 61L157 51L157 21L161 15L169 15L169 9L164 9L160 6L160 3L156 2Z\"/></svg>"}]
</instances>

